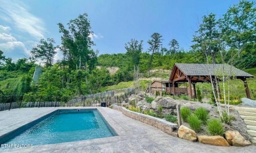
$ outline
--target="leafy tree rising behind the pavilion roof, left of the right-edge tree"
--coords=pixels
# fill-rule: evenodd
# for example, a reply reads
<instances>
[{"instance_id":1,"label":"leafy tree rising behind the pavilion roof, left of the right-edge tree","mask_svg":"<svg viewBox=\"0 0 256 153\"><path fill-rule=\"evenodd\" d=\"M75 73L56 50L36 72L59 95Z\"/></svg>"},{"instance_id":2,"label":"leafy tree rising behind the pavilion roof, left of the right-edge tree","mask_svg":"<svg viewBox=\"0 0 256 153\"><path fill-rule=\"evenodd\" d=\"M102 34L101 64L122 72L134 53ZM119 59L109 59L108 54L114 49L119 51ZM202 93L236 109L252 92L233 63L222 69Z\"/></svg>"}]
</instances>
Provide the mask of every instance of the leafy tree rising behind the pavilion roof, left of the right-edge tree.
<instances>
[{"instance_id":1,"label":"leafy tree rising behind the pavilion roof, left of the right-edge tree","mask_svg":"<svg viewBox=\"0 0 256 153\"><path fill-rule=\"evenodd\" d=\"M218 23L215 17L216 15L213 13L202 17L199 29L193 35L192 42L195 42L195 44L191 46L194 50L200 50L207 54L206 56L211 56L213 63L215 63L216 54L219 50Z\"/></svg>"}]
</instances>

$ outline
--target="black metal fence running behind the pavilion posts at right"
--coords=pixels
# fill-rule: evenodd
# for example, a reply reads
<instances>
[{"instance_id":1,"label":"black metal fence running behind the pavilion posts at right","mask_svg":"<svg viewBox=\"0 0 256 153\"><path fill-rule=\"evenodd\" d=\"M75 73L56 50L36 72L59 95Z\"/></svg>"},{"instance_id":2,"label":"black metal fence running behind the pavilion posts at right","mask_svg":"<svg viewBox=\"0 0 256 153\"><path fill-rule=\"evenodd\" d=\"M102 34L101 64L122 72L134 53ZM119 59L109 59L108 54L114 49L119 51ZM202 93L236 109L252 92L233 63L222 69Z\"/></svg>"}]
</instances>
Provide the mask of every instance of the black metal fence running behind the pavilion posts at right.
<instances>
[{"instance_id":1,"label":"black metal fence running behind the pavilion posts at right","mask_svg":"<svg viewBox=\"0 0 256 153\"><path fill-rule=\"evenodd\" d=\"M210 91L210 90L203 90L202 91L202 95L204 97L206 97L206 98L210 98L211 97L211 93L212 93L212 91ZM256 99L256 89L250 89L249 93L250 93L251 99ZM221 93L221 95L223 96L223 93ZM246 97L246 91L245 90L230 91L230 98L232 98L232 99L240 99L242 97Z\"/></svg>"}]
</instances>

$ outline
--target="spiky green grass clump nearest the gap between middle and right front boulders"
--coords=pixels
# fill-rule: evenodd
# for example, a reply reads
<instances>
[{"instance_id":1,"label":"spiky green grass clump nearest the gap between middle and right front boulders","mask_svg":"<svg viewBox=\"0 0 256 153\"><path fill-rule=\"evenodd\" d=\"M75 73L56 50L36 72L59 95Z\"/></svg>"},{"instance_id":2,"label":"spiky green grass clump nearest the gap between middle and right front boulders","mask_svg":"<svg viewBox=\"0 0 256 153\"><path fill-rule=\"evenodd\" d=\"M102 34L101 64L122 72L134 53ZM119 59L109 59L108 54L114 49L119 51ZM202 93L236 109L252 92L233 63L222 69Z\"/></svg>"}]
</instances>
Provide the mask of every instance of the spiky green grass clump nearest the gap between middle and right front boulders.
<instances>
[{"instance_id":1,"label":"spiky green grass clump nearest the gap between middle and right front boulders","mask_svg":"<svg viewBox=\"0 0 256 153\"><path fill-rule=\"evenodd\" d=\"M207 122L207 129L210 135L224 135L222 123L218 119L211 119Z\"/></svg>"}]
</instances>

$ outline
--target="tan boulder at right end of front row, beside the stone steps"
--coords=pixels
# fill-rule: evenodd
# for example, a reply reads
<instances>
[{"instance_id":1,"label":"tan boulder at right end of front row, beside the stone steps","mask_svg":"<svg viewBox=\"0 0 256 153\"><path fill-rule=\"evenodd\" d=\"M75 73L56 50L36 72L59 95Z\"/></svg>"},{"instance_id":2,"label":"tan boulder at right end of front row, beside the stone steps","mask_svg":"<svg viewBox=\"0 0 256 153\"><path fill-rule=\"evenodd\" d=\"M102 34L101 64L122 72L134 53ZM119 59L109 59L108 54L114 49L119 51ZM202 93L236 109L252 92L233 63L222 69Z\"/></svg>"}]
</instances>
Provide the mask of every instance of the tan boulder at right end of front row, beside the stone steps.
<instances>
[{"instance_id":1,"label":"tan boulder at right end of front row, beside the stone steps","mask_svg":"<svg viewBox=\"0 0 256 153\"><path fill-rule=\"evenodd\" d=\"M244 137L238 131L226 131L225 137L230 145L247 146L251 144L250 141L244 139Z\"/></svg>"}]
</instances>

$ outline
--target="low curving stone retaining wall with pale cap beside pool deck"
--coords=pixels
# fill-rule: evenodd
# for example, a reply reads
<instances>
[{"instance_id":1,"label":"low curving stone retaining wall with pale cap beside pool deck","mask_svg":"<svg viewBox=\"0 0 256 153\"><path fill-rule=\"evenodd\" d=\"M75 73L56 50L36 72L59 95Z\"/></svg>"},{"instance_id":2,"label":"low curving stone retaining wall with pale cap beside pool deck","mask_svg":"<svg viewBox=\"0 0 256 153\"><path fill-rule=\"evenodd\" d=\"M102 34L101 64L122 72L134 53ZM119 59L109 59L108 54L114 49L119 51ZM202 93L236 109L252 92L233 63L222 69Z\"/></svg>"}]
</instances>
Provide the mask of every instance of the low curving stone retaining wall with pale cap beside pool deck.
<instances>
[{"instance_id":1,"label":"low curving stone retaining wall with pale cap beside pool deck","mask_svg":"<svg viewBox=\"0 0 256 153\"><path fill-rule=\"evenodd\" d=\"M145 115L142 113L130 111L130 110L126 109L125 107L121 107L121 106L113 106L113 109L122 111L122 113L124 115L126 115L132 119L136 119L137 121L140 121L142 123L156 127L169 135L178 137L178 134L173 132L173 128L178 128L178 124L171 123L164 119L160 119L160 118L153 117L150 115Z\"/></svg>"}]
</instances>

